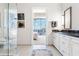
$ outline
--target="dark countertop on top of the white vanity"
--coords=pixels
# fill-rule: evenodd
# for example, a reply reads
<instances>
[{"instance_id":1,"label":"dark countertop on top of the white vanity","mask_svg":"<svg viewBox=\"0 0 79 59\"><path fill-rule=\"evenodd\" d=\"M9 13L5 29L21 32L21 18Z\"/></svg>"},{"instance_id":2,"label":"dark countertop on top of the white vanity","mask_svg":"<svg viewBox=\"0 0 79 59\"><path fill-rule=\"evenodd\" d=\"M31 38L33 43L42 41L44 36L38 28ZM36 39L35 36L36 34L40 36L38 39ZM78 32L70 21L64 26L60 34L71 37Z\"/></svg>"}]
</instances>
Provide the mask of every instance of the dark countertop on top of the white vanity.
<instances>
[{"instance_id":1,"label":"dark countertop on top of the white vanity","mask_svg":"<svg viewBox=\"0 0 79 59\"><path fill-rule=\"evenodd\" d=\"M54 32L54 31L53 31ZM63 30L63 31L55 31L56 33L78 37L79 38L79 30Z\"/></svg>"}]
</instances>

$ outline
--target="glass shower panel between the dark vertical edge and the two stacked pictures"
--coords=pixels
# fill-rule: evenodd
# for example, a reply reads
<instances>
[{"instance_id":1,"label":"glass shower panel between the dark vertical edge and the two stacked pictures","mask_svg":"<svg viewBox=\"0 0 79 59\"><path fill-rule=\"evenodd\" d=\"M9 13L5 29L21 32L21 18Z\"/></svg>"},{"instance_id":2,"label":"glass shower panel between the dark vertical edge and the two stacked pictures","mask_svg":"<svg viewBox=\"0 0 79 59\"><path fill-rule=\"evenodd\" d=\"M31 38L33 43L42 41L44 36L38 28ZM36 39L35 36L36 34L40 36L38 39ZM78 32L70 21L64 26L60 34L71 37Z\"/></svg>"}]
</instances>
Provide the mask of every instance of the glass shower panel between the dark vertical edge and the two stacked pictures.
<instances>
[{"instance_id":1,"label":"glass shower panel between the dark vertical edge and the two stacked pictures","mask_svg":"<svg viewBox=\"0 0 79 59\"><path fill-rule=\"evenodd\" d=\"M9 55L17 54L17 10L9 9Z\"/></svg>"}]
</instances>

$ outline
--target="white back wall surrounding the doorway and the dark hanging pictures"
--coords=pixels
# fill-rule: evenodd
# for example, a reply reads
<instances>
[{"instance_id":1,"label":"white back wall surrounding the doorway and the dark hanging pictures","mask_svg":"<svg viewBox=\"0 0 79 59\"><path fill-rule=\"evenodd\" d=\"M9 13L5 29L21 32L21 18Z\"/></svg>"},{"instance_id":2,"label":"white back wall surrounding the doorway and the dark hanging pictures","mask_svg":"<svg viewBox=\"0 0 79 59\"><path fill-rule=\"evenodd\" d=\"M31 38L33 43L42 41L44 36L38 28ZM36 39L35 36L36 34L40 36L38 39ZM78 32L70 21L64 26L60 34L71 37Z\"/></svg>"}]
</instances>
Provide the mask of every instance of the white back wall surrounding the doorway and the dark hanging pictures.
<instances>
[{"instance_id":1,"label":"white back wall surrounding the doorway and the dark hanging pictures","mask_svg":"<svg viewBox=\"0 0 79 59\"><path fill-rule=\"evenodd\" d=\"M46 8L47 10L47 20L61 20L61 8L60 4L54 3L27 3L27 4L17 4L18 12L25 13L25 28L18 28L18 44L31 44L32 39L32 8ZM59 24L59 23L58 23ZM51 33L51 28L48 25L48 35ZM60 26L57 26L59 29ZM49 42L50 43L50 42Z\"/></svg>"}]
</instances>

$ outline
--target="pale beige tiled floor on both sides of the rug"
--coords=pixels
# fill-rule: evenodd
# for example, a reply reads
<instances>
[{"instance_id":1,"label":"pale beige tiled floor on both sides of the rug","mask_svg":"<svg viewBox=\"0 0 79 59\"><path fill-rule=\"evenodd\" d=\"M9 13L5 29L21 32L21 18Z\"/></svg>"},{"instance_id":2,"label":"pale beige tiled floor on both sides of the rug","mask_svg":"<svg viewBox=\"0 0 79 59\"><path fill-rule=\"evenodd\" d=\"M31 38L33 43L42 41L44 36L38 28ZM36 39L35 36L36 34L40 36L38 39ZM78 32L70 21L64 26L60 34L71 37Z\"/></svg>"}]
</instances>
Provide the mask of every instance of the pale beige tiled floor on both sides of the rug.
<instances>
[{"instance_id":1,"label":"pale beige tiled floor on both sides of the rug","mask_svg":"<svg viewBox=\"0 0 79 59\"><path fill-rule=\"evenodd\" d=\"M53 56L61 56L61 54L53 46L47 46L51 50ZM33 46L18 46L18 55L19 56L31 56Z\"/></svg>"}]
</instances>

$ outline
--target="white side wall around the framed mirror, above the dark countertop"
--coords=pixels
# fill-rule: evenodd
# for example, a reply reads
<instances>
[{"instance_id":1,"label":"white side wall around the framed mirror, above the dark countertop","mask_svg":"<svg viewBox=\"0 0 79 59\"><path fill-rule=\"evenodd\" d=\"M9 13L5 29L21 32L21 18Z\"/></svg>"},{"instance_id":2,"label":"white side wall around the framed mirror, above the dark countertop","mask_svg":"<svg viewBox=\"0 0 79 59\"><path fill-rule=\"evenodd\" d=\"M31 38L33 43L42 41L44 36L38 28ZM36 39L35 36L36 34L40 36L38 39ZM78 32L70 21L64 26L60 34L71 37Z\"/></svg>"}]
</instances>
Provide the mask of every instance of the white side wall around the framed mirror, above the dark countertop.
<instances>
[{"instance_id":1,"label":"white side wall around the framed mirror, above the dark countertop","mask_svg":"<svg viewBox=\"0 0 79 59\"><path fill-rule=\"evenodd\" d=\"M64 10L69 7L72 7L72 29L79 30L79 3L64 3L61 4L62 14Z\"/></svg>"}]
</instances>

